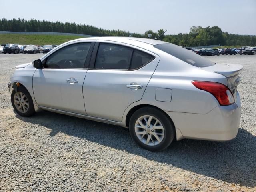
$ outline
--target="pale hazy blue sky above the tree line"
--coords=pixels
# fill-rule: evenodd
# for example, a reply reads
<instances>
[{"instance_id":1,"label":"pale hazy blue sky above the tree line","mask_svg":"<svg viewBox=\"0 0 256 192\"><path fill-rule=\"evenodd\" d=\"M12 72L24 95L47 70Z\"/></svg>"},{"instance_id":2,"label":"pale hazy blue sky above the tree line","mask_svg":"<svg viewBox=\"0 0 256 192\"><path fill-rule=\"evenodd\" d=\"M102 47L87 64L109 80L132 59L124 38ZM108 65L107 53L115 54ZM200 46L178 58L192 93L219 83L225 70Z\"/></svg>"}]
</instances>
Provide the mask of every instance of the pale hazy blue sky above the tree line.
<instances>
[{"instance_id":1,"label":"pale hazy blue sky above the tree line","mask_svg":"<svg viewBox=\"0 0 256 192\"><path fill-rule=\"evenodd\" d=\"M0 0L0 18L75 22L144 34L188 33L191 26L219 26L256 35L256 0Z\"/></svg>"}]
</instances>

